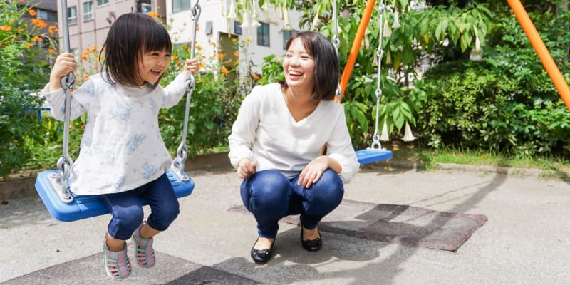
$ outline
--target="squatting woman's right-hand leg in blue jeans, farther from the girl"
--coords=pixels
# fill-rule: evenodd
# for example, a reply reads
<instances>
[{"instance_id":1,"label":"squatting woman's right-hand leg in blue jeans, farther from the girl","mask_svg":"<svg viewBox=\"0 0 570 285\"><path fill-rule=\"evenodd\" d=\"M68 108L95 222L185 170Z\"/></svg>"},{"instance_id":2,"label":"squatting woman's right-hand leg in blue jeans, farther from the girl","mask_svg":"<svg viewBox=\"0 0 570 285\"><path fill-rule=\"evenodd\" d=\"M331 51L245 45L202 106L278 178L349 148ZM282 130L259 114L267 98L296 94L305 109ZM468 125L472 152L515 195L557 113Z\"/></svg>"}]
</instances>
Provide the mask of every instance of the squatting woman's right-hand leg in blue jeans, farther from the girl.
<instances>
[{"instance_id":1,"label":"squatting woman's right-hand leg in blue jeans, farther from the girl","mask_svg":"<svg viewBox=\"0 0 570 285\"><path fill-rule=\"evenodd\" d=\"M309 188L297 185L297 180L299 177L293 180L293 191L296 198L300 197L302 200L301 204L296 206L300 208L301 224L305 229L315 229L323 217L341 204L344 184L341 177L331 169L323 172L321 179Z\"/></svg>"}]
</instances>

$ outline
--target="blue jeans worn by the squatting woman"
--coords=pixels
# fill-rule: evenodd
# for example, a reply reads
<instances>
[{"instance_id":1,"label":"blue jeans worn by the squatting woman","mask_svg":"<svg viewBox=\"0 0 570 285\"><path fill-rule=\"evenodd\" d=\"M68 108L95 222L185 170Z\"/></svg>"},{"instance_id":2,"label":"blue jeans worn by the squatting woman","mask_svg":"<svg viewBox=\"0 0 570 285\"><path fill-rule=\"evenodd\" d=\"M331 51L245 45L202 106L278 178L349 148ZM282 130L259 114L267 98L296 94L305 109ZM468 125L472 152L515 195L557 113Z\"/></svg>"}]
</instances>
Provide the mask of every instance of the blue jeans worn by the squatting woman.
<instances>
[{"instance_id":1,"label":"blue jeans worn by the squatting woman","mask_svg":"<svg viewBox=\"0 0 570 285\"><path fill-rule=\"evenodd\" d=\"M244 206L254 214L259 237L275 238L279 220L301 214L301 224L314 229L321 219L341 204L344 185L331 169L309 188L297 185L299 176L287 179L276 170L256 172L242 182Z\"/></svg>"}]
</instances>

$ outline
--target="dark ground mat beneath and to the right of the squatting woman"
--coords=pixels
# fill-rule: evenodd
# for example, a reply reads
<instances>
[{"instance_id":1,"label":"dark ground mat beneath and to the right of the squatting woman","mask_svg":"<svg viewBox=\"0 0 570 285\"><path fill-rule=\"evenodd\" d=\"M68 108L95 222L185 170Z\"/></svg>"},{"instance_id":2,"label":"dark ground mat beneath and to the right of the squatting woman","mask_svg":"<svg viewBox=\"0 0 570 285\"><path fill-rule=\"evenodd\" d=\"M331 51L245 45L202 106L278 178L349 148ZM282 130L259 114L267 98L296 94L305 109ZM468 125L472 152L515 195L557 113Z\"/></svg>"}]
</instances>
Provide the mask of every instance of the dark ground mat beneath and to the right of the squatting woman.
<instances>
[{"instance_id":1,"label":"dark ground mat beneath and to the right of the squatting woman","mask_svg":"<svg viewBox=\"0 0 570 285\"><path fill-rule=\"evenodd\" d=\"M248 213L244 206L229 210ZM282 222L299 224L299 216L285 217ZM439 212L345 199L321 221L318 228L323 232L361 239L455 252L485 222L487 217L481 214Z\"/></svg>"}]
</instances>

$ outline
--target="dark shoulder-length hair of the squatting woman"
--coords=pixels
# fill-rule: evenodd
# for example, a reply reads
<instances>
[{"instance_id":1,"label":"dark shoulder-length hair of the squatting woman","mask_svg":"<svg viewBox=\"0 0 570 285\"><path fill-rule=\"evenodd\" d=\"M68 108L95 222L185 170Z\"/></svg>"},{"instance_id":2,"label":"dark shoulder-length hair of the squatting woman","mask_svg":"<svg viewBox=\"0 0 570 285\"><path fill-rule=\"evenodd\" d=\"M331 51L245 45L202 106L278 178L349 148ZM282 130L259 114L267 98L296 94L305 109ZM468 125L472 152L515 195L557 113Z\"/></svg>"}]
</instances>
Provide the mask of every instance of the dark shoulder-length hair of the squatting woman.
<instances>
[{"instance_id":1,"label":"dark shoulder-length hair of the squatting woman","mask_svg":"<svg viewBox=\"0 0 570 285\"><path fill-rule=\"evenodd\" d=\"M289 38L286 43L286 50L291 43L299 38L306 50L315 59L315 86L313 88L312 100L333 100L338 87L338 56L333 43L325 36L314 31L304 31L296 33ZM278 81L283 87L287 87L284 80Z\"/></svg>"}]
</instances>

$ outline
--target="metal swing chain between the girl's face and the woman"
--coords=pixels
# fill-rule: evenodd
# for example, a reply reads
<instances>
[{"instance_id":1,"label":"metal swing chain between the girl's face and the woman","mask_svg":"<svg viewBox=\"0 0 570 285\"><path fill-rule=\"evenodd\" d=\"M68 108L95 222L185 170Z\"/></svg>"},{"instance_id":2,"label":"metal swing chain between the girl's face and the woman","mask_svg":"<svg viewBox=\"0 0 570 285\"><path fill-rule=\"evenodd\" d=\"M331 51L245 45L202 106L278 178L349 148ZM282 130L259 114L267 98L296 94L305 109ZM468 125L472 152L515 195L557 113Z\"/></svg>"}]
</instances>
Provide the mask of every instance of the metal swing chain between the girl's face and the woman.
<instances>
[{"instance_id":1,"label":"metal swing chain between the girl's face and the woman","mask_svg":"<svg viewBox=\"0 0 570 285\"><path fill-rule=\"evenodd\" d=\"M200 14L202 12L202 8L199 6L199 0L196 1L196 4L192 7L191 10L191 18L192 18L192 41L191 41L191 49L190 49L190 58L194 58L195 53L195 42L196 42L196 26L198 24L198 19L200 18ZM172 160L172 170L174 170L175 174L180 177L181 180L188 180L190 177L185 174L184 172L184 165L186 162L186 158L188 155L188 147L186 145L186 136L188 133L188 119L190 118L190 100L192 99L192 92L196 87L196 80L192 71L188 73L186 77L186 109L184 113L184 128L182 128L182 140L180 141L180 145L178 146L177 150L177 157Z\"/></svg>"}]
</instances>

